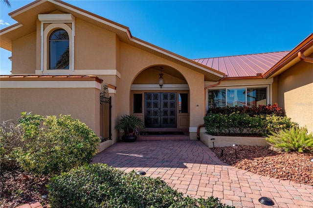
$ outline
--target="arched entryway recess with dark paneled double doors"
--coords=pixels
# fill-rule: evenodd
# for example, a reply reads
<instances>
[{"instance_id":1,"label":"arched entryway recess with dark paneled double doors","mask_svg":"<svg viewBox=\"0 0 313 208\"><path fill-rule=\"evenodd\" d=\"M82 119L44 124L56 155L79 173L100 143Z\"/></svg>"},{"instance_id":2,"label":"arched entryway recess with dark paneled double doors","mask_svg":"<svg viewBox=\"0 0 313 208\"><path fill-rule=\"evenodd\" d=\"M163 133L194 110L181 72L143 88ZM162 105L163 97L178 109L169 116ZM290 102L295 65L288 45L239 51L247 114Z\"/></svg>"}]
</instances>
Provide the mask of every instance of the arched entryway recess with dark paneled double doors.
<instances>
[{"instance_id":1,"label":"arched entryway recess with dark paneled double doors","mask_svg":"<svg viewBox=\"0 0 313 208\"><path fill-rule=\"evenodd\" d=\"M158 81L162 73L164 84ZM132 113L147 128L189 128L189 87L183 75L169 66L142 70L131 87Z\"/></svg>"}]
</instances>

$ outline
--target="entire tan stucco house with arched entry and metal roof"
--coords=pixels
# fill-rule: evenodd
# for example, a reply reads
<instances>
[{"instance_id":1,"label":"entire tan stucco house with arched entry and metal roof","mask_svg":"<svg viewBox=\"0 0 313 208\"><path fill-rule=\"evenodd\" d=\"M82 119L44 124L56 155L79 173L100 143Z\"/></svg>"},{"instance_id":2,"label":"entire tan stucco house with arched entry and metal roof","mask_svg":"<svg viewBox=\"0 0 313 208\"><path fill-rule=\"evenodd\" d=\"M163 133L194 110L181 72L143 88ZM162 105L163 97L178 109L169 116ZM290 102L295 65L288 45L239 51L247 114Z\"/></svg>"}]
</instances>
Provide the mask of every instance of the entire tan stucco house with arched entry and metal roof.
<instances>
[{"instance_id":1,"label":"entire tan stucco house with arched entry and metal roof","mask_svg":"<svg viewBox=\"0 0 313 208\"><path fill-rule=\"evenodd\" d=\"M106 84L112 140L100 149L117 141L114 126L125 114L196 139L214 106L278 103L313 131L312 34L291 51L190 60L60 0L37 0L9 15L18 23L0 31L0 46L12 51L11 74L0 76L0 120L25 111L70 114L99 135Z\"/></svg>"}]
</instances>

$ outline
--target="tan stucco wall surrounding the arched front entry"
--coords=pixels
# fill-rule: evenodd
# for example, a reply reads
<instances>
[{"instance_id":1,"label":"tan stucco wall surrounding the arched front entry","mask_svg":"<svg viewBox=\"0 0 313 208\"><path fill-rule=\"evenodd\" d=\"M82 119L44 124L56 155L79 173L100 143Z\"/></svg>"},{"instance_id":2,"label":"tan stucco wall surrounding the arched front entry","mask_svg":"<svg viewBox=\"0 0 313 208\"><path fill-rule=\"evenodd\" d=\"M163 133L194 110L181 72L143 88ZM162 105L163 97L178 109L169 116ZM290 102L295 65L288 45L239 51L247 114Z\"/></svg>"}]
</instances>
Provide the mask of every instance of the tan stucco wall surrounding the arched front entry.
<instances>
[{"instance_id":1,"label":"tan stucco wall surrounding the arched front entry","mask_svg":"<svg viewBox=\"0 0 313 208\"><path fill-rule=\"evenodd\" d=\"M120 112L117 112L116 116L121 116L123 114L130 114L130 88L135 79L135 77L140 74L144 69L151 66L165 65L172 67L174 70L178 70L186 81L179 83L186 83L189 85L190 89L190 127L197 127L199 124L203 123L203 109L204 109L204 75L193 71L191 69L182 67L176 63L170 62L166 59L160 58L151 53L145 52L133 46L125 43L121 43L121 84L117 85L117 96L120 97L121 102L118 102ZM143 73L145 74L145 73ZM157 83L158 74L156 73L155 84ZM140 75L141 76L141 75ZM144 75L147 80L151 74ZM140 77L144 79L144 77ZM178 82L178 80L176 80ZM167 80L164 78L164 82ZM200 96L199 96L200 95ZM198 105L198 107L197 107ZM116 105L114 106L116 107Z\"/></svg>"}]
</instances>

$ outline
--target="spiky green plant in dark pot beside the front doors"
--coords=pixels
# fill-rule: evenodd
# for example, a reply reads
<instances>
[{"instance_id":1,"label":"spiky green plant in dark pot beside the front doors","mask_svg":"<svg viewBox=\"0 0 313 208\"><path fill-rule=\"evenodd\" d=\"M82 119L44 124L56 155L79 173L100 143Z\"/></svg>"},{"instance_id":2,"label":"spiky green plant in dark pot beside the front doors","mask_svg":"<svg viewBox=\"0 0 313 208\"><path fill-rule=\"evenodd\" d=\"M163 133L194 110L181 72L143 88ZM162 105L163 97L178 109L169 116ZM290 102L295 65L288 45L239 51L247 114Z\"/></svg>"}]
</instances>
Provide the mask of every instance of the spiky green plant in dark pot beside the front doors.
<instances>
[{"instance_id":1,"label":"spiky green plant in dark pot beside the front doors","mask_svg":"<svg viewBox=\"0 0 313 208\"><path fill-rule=\"evenodd\" d=\"M125 142L132 142L137 139L140 130L145 129L143 121L134 115L124 115L119 119L117 130L124 132L122 140Z\"/></svg>"}]
</instances>

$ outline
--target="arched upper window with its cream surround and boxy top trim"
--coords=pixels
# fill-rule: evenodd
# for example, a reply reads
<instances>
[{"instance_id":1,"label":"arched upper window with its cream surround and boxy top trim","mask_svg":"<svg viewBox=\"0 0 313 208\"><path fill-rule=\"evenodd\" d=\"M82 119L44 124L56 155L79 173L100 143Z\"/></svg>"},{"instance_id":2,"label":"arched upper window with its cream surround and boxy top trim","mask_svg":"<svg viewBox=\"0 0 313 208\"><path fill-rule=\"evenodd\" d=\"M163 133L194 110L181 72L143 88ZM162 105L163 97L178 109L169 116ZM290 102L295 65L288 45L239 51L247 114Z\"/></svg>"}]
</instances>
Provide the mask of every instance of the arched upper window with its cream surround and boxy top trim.
<instances>
[{"instance_id":1,"label":"arched upper window with its cream surround and boxy top trim","mask_svg":"<svg viewBox=\"0 0 313 208\"><path fill-rule=\"evenodd\" d=\"M71 14L39 14L41 21L41 70L74 71L75 18ZM50 70L50 72L49 72Z\"/></svg>"}]
</instances>

